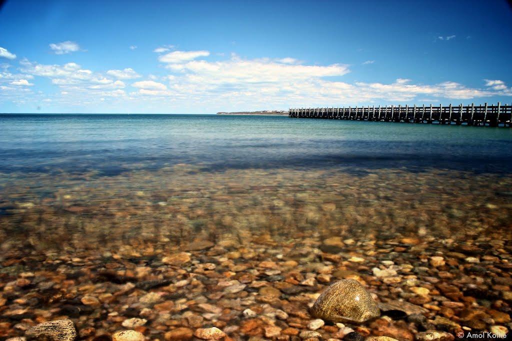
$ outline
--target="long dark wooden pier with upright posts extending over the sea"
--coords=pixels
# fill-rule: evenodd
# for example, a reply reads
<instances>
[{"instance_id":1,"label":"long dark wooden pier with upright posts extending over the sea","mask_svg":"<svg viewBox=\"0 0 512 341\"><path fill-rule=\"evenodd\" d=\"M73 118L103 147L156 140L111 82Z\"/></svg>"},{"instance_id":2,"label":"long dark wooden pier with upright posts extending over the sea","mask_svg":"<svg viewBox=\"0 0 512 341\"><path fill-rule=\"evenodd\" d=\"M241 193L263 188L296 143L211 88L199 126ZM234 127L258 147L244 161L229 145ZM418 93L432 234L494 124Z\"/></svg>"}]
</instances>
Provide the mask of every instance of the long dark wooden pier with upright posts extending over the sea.
<instances>
[{"instance_id":1,"label":"long dark wooden pier with upright posts extending over the sea","mask_svg":"<svg viewBox=\"0 0 512 341\"><path fill-rule=\"evenodd\" d=\"M335 120L439 123L474 126L512 126L512 104L488 105L389 105L349 106L348 108L290 109L293 118L323 118Z\"/></svg>"}]
</instances>

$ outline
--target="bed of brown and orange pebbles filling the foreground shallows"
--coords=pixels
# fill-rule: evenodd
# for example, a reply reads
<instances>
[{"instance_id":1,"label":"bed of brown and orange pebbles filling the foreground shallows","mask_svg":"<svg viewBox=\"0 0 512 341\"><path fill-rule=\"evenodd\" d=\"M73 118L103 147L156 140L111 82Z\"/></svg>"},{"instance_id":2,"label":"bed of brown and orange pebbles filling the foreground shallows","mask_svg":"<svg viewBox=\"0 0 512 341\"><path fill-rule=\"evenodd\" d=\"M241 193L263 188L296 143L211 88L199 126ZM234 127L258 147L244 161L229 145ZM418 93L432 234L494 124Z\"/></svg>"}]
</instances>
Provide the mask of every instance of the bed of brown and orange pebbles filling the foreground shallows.
<instances>
[{"instance_id":1,"label":"bed of brown and orange pebbles filling the foreground shallows","mask_svg":"<svg viewBox=\"0 0 512 341\"><path fill-rule=\"evenodd\" d=\"M177 164L2 183L2 339L48 338L52 322L72 328L50 339L117 341L453 340L512 327L510 177ZM318 296L350 280L378 314L318 318ZM371 308L334 301L345 316Z\"/></svg>"}]
</instances>

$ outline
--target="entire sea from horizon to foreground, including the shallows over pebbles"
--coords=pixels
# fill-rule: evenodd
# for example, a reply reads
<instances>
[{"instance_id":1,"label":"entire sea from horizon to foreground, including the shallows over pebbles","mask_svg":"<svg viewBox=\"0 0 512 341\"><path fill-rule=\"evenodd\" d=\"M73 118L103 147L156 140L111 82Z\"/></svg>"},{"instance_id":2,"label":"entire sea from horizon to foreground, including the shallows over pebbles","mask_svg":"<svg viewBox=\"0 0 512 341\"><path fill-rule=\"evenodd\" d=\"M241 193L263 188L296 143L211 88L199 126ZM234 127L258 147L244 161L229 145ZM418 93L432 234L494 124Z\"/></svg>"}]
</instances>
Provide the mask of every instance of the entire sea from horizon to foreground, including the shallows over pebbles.
<instances>
[{"instance_id":1,"label":"entire sea from horizon to foreground, including the shallows over pebbles","mask_svg":"<svg viewBox=\"0 0 512 341\"><path fill-rule=\"evenodd\" d=\"M412 305L349 326L363 335L509 327L507 129L115 115L0 128L0 337L66 317L91 339L293 337L347 278Z\"/></svg>"}]
</instances>

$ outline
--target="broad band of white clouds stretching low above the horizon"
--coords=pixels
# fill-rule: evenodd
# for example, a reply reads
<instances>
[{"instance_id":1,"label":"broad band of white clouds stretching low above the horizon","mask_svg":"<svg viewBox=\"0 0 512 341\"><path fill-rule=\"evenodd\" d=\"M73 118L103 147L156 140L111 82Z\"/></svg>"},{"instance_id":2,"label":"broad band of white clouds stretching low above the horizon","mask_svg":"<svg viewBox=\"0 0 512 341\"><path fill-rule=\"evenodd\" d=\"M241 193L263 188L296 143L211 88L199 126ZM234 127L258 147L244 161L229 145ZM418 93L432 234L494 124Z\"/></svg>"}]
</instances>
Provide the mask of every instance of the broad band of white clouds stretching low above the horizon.
<instances>
[{"instance_id":1,"label":"broad band of white clouds stretching low above the horizon","mask_svg":"<svg viewBox=\"0 0 512 341\"><path fill-rule=\"evenodd\" d=\"M131 68L96 72L74 62L45 65L22 59L18 73L10 72L8 67L0 68L0 101L39 98L41 102L50 98L54 105L78 108L83 103L96 105L103 98L103 102L112 105L130 102L140 104L141 108L153 105L178 111L189 108L191 102L201 103L205 110L234 110L421 103L426 99L447 103L512 96L505 81L497 79L485 79L481 87L467 87L456 81L422 84L405 77L391 82L347 82L343 76L350 68L344 64L313 65L292 57L246 59L236 54L222 60L197 59L208 55L208 51L174 51L157 56L167 56L163 61L165 68L160 69L163 72L144 75L143 80L129 84L123 80L142 77ZM50 79L59 91L34 91L37 88L32 85L37 84L38 77Z\"/></svg>"}]
</instances>

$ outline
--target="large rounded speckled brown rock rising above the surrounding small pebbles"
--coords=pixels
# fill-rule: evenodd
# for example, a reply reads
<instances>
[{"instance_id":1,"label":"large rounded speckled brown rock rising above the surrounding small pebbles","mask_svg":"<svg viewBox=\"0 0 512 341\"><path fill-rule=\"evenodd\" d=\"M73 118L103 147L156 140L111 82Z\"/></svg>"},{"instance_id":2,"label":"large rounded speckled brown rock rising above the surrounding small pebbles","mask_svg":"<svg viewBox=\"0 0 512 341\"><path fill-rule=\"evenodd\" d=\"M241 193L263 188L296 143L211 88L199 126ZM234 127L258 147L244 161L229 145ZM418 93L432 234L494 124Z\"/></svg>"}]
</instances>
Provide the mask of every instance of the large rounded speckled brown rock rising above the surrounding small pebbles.
<instances>
[{"instance_id":1,"label":"large rounded speckled brown rock rising above the surrounding small pebbles","mask_svg":"<svg viewBox=\"0 0 512 341\"><path fill-rule=\"evenodd\" d=\"M356 280L342 280L318 297L312 314L333 322L363 323L380 316L370 293Z\"/></svg>"}]
</instances>

